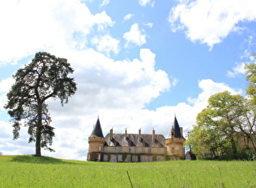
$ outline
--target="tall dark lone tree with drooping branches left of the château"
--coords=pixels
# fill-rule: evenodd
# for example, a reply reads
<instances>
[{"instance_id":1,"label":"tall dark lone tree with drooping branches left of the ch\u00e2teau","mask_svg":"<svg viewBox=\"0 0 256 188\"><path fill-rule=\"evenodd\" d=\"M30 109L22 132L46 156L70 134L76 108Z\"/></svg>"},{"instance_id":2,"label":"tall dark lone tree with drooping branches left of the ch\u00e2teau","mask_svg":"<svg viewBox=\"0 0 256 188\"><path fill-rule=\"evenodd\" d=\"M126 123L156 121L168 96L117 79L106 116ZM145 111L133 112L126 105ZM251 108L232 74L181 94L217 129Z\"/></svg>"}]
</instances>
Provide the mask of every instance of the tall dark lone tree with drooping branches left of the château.
<instances>
[{"instance_id":1,"label":"tall dark lone tree with drooping branches left of the ch\u00e2teau","mask_svg":"<svg viewBox=\"0 0 256 188\"><path fill-rule=\"evenodd\" d=\"M15 83L8 92L5 109L11 116L14 139L19 138L22 125L28 126L29 142L35 141L35 156L41 156L41 148L53 151L53 127L47 99L59 99L62 106L77 89L67 59L46 52L38 52L29 65L14 74Z\"/></svg>"}]
</instances>

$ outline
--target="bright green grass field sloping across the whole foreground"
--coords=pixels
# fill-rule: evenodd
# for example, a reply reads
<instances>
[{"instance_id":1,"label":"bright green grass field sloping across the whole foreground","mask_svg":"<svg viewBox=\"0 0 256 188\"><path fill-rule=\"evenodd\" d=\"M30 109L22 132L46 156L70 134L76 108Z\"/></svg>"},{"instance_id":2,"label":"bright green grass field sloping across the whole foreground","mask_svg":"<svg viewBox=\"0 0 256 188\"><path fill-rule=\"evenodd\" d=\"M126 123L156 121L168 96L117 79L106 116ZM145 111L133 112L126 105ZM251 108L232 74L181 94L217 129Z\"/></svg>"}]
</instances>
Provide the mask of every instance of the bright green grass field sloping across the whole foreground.
<instances>
[{"instance_id":1,"label":"bright green grass field sloping across the whole foreground","mask_svg":"<svg viewBox=\"0 0 256 188\"><path fill-rule=\"evenodd\" d=\"M83 162L0 156L0 187L256 187L256 162Z\"/></svg>"}]
</instances>

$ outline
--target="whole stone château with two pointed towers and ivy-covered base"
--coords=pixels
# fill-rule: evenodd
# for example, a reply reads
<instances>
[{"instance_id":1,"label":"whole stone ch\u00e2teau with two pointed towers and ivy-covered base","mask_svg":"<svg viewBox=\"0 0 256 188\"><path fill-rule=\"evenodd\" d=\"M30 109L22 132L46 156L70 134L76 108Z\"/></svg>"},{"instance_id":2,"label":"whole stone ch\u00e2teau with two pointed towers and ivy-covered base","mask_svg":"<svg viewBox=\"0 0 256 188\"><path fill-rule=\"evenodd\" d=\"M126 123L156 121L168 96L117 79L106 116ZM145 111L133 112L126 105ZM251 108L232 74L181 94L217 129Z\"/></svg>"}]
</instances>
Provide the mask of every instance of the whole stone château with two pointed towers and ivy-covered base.
<instances>
[{"instance_id":1,"label":"whole stone ch\u00e2teau with two pointed towers and ivy-covered base","mask_svg":"<svg viewBox=\"0 0 256 188\"><path fill-rule=\"evenodd\" d=\"M100 162L152 162L184 159L183 130L176 117L169 138L163 135L113 133L113 129L104 137L98 120L89 137L88 161Z\"/></svg>"}]
</instances>

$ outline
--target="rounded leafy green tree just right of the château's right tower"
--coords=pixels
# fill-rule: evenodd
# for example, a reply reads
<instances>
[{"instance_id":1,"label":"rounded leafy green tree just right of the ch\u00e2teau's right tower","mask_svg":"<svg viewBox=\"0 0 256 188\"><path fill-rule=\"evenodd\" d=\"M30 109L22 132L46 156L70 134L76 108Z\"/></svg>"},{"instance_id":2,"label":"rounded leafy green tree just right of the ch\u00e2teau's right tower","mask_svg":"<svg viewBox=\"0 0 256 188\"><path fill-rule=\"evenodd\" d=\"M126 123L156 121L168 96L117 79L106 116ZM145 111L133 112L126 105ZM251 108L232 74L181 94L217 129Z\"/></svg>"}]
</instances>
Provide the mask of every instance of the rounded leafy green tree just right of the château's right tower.
<instances>
[{"instance_id":1,"label":"rounded leafy green tree just right of the ch\u00e2teau's right tower","mask_svg":"<svg viewBox=\"0 0 256 188\"><path fill-rule=\"evenodd\" d=\"M198 145L194 151L197 154L202 148L208 148L205 155L213 159L239 158L241 148L238 143L244 136L241 134L241 129L244 130L242 120L248 111L246 99L226 91L211 96L208 102L209 105L197 115L197 126L187 143L193 141Z\"/></svg>"}]
</instances>

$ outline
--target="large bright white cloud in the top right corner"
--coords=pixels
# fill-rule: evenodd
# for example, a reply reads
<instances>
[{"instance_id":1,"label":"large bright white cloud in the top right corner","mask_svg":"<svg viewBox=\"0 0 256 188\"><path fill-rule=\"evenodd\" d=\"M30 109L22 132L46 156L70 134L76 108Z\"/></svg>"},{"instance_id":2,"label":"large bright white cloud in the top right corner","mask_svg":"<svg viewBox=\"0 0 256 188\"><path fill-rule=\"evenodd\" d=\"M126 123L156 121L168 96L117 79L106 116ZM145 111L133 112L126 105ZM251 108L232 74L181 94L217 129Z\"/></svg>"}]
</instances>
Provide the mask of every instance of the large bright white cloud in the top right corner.
<instances>
[{"instance_id":1,"label":"large bright white cloud in the top right corner","mask_svg":"<svg viewBox=\"0 0 256 188\"><path fill-rule=\"evenodd\" d=\"M184 29L191 41L199 41L212 48L230 34L242 28L242 21L256 20L254 0L196 0L180 1L169 14L172 31Z\"/></svg>"}]
</instances>

